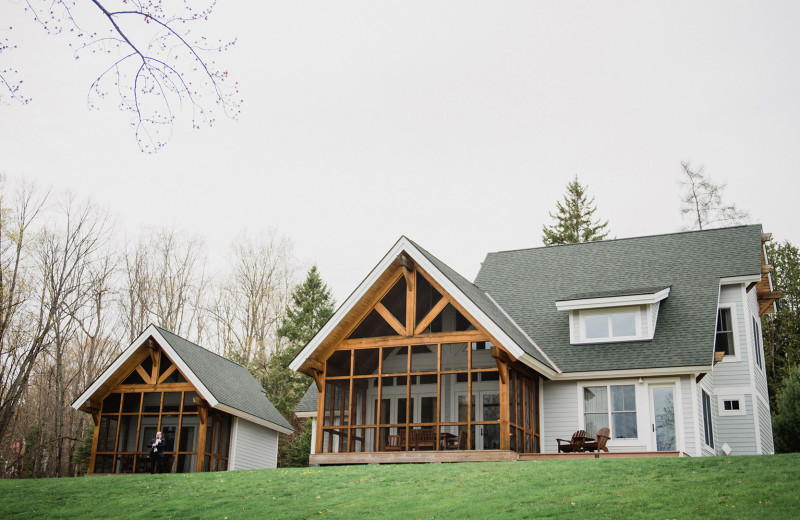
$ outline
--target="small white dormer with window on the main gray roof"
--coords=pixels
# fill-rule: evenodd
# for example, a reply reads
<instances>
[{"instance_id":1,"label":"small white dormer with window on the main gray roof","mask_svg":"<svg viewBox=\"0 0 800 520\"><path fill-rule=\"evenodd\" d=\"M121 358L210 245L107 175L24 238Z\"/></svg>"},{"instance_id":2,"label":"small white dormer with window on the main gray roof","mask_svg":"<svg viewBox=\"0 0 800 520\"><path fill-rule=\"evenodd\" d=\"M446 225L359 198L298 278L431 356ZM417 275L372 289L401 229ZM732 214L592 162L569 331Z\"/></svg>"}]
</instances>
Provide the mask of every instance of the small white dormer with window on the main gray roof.
<instances>
[{"instance_id":1,"label":"small white dormer with window on the main gray roof","mask_svg":"<svg viewBox=\"0 0 800 520\"><path fill-rule=\"evenodd\" d=\"M578 293L557 300L556 308L569 311L572 345L648 341L669 290L660 286Z\"/></svg>"}]
</instances>

